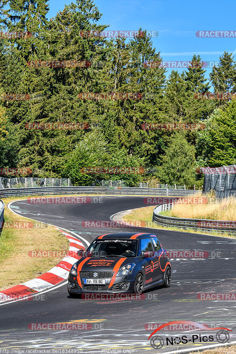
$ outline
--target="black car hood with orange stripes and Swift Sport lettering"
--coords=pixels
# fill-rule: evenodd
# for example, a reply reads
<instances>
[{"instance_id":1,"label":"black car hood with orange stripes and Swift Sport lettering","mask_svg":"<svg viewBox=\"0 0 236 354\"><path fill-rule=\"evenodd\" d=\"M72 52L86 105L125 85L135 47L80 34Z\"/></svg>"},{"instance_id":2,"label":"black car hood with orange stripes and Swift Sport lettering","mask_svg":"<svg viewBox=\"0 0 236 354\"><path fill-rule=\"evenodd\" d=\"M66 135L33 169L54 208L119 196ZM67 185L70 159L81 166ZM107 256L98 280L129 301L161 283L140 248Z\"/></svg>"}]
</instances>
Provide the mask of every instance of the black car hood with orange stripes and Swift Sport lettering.
<instances>
[{"instance_id":1,"label":"black car hood with orange stripes and Swift Sport lettering","mask_svg":"<svg viewBox=\"0 0 236 354\"><path fill-rule=\"evenodd\" d=\"M82 257L77 262L77 270L86 272L118 272L121 266L128 263L135 263L135 261L137 261L137 258Z\"/></svg>"}]
</instances>

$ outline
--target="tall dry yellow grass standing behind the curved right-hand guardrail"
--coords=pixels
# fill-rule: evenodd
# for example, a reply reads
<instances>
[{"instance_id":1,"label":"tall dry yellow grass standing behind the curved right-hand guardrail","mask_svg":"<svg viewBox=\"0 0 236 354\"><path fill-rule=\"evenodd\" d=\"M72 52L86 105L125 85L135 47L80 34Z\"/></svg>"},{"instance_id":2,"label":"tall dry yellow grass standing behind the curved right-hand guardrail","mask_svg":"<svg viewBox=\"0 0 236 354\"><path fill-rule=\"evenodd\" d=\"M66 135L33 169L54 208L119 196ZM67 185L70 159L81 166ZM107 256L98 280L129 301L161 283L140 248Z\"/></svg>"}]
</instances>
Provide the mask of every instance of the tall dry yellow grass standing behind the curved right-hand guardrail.
<instances>
[{"instance_id":1,"label":"tall dry yellow grass standing behind the curved right-hand guardrail","mask_svg":"<svg viewBox=\"0 0 236 354\"><path fill-rule=\"evenodd\" d=\"M197 197L200 200L202 195ZM236 198L231 196L219 202L208 196L207 200L207 204L175 204L171 214L190 219L236 220Z\"/></svg>"}]
</instances>

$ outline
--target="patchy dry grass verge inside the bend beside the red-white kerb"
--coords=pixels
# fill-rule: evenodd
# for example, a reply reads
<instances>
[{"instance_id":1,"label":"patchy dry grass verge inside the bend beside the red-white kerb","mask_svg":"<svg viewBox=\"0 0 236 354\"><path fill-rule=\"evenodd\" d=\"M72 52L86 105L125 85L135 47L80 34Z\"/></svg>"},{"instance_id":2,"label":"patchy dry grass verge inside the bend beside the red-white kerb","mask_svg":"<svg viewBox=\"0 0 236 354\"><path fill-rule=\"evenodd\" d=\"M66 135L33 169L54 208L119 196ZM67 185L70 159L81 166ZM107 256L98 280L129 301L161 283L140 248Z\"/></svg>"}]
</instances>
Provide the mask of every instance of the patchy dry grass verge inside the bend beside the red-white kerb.
<instances>
[{"instance_id":1,"label":"patchy dry grass verge inside the bend beside the red-white kerb","mask_svg":"<svg viewBox=\"0 0 236 354\"><path fill-rule=\"evenodd\" d=\"M7 204L25 199L20 197L2 198L5 204L6 222L33 222L12 213ZM34 223L34 222L33 222ZM39 223L38 223L39 224ZM68 239L52 226L41 224L41 228L3 228L0 235L0 291L47 272L63 257L29 257L32 250L69 250Z\"/></svg>"}]
</instances>

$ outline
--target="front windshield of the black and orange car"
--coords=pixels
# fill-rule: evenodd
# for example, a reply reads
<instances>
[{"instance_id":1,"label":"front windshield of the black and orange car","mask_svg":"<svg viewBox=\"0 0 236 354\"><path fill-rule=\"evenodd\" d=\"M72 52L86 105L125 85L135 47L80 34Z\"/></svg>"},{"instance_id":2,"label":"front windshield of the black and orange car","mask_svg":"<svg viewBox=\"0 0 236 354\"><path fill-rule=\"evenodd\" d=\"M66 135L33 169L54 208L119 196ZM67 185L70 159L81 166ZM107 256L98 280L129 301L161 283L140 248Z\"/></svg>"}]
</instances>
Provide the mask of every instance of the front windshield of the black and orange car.
<instances>
[{"instance_id":1,"label":"front windshield of the black and orange car","mask_svg":"<svg viewBox=\"0 0 236 354\"><path fill-rule=\"evenodd\" d=\"M138 240L95 240L88 247L89 257L136 257Z\"/></svg>"}]
</instances>

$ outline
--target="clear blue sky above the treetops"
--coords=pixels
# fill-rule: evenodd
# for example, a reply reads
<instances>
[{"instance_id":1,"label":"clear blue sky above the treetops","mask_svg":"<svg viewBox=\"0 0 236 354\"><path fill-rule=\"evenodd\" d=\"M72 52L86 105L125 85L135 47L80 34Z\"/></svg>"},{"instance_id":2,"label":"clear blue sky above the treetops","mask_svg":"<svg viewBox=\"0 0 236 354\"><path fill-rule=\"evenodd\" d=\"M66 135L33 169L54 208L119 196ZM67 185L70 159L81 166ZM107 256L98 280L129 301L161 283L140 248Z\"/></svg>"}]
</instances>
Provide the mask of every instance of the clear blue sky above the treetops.
<instances>
[{"instance_id":1,"label":"clear blue sky above the treetops","mask_svg":"<svg viewBox=\"0 0 236 354\"><path fill-rule=\"evenodd\" d=\"M48 18L70 2L50 0ZM199 30L235 32L235 1L96 0L94 3L103 14L99 23L109 25L110 30L138 30L140 27L157 30L159 36L152 41L163 61L191 60L194 53L203 61L218 61L224 51L233 52L236 60L236 38L196 36ZM206 70L207 76L211 69Z\"/></svg>"}]
</instances>

